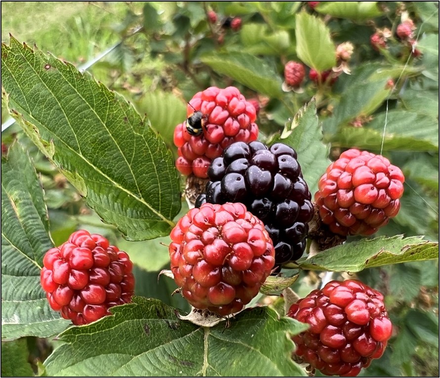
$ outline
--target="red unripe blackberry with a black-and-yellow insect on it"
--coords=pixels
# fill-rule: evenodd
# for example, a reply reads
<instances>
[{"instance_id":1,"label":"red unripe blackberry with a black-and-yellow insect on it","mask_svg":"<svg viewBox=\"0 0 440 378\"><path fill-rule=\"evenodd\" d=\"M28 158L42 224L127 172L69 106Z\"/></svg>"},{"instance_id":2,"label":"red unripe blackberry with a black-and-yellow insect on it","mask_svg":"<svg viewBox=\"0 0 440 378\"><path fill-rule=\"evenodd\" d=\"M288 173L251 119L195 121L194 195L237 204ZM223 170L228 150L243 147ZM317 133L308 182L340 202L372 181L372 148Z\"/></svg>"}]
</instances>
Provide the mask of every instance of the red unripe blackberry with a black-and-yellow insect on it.
<instances>
[{"instance_id":1,"label":"red unripe blackberry with a black-and-yellow insect on it","mask_svg":"<svg viewBox=\"0 0 440 378\"><path fill-rule=\"evenodd\" d=\"M187 106L187 116L203 114L202 133L191 135L187 123L174 130L174 144L179 155L176 168L185 175L207 177L212 159L235 141L249 142L258 137L256 110L235 87L210 87L198 92Z\"/></svg>"}]
</instances>

